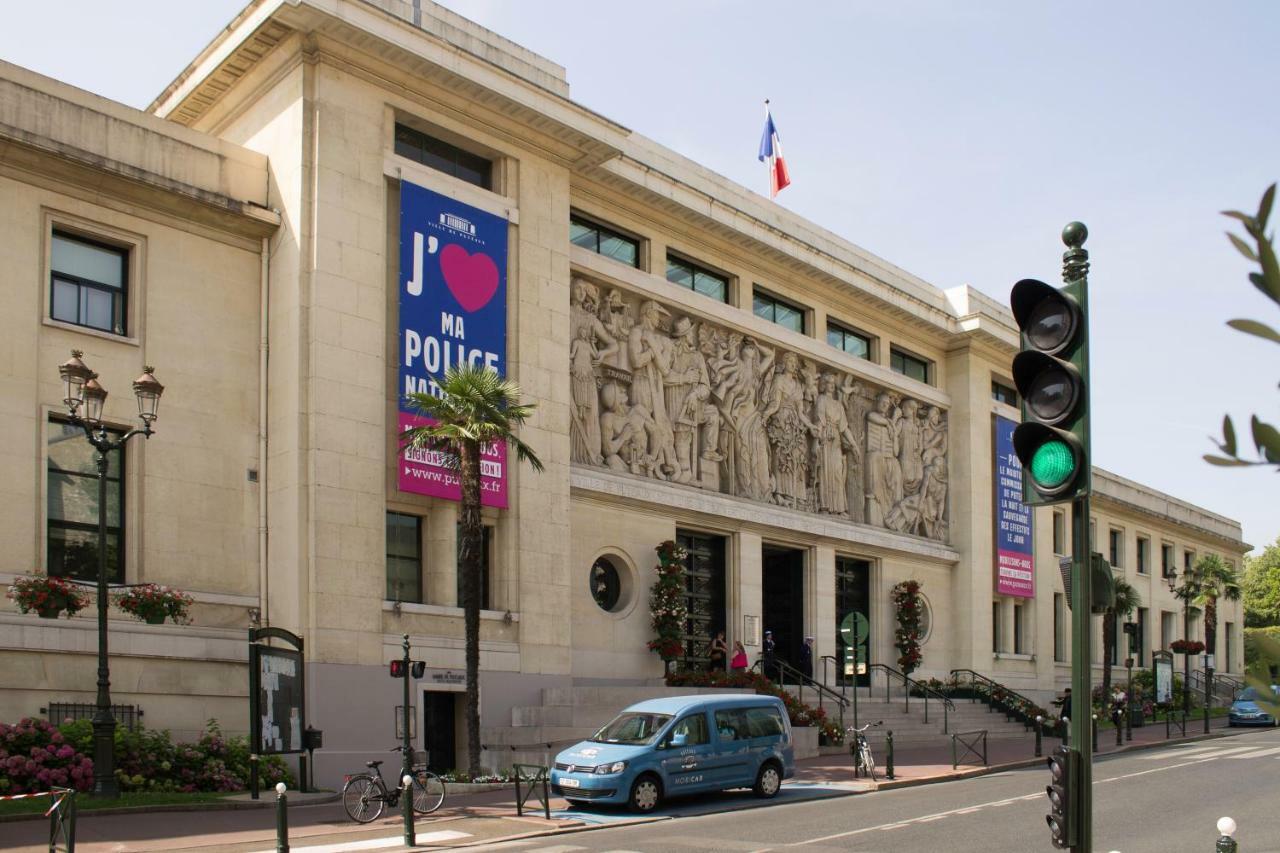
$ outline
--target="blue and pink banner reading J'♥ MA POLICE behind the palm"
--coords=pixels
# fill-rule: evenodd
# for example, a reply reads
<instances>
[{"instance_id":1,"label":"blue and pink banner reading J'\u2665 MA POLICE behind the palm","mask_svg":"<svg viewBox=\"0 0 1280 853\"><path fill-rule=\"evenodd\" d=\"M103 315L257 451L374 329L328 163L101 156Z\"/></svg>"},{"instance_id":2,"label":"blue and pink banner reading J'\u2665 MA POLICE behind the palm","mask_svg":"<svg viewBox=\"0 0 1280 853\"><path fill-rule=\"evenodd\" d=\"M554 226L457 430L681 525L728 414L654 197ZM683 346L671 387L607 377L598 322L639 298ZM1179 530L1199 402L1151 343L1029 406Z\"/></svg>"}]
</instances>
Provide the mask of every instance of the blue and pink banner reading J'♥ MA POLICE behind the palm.
<instances>
[{"instance_id":1,"label":"blue and pink banner reading J'\u2665 MA POLICE behind the palm","mask_svg":"<svg viewBox=\"0 0 1280 853\"><path fill-rule=\"evenodd\" d=\"M401 182L399 428L429 423L406 407L439 393L456 364L507 371L507 219ZM401 455L399 489L457 501L461 484L439 451ZM485 506L507 506L507 447L481 450Z\"/></svg>"}]
</instances>

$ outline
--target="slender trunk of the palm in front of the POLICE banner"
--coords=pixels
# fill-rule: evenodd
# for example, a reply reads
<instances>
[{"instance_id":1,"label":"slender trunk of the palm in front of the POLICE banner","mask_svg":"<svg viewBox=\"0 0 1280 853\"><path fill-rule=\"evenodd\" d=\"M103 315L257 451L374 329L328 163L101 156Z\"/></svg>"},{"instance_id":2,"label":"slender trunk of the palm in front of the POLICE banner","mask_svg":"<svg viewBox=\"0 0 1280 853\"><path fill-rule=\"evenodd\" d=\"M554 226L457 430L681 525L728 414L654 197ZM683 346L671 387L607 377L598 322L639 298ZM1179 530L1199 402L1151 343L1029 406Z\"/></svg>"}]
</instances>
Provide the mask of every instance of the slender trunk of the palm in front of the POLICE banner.
<instances>
[{"instance_id":1,"label":"slender trunk of the palm in front of the POLICE banner","mask_svg":"<svg viewBox=\"0 0 1280 853\"><path fill-rule=\"evenodd\" d=\"M458 479L462 482L462 517L458 523L458 571L462 573L462 611L467 665L467 772L480 774L480 443L467 441L458 448Z\"/></svg>"}]
</instances>

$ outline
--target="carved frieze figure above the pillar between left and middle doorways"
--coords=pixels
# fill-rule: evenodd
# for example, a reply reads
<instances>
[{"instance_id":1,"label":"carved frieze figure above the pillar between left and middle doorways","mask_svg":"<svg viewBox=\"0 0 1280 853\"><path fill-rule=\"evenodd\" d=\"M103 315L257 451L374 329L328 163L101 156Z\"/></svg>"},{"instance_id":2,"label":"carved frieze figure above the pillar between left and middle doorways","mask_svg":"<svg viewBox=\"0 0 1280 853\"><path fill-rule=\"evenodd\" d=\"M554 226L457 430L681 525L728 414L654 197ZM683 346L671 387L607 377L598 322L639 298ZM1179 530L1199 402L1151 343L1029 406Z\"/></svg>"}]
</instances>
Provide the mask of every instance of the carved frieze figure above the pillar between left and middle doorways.
<instances>
[{"instance_id":1,"label":"carved frieze figure above the pillar between left and middle doorways","mask_svg":"<svg viewBox=\"0 0 1280 853\"><path fill-rule=\"evenodd\" d=\"M728 426L730 491L755 501L769 500L769 439L760 418L759 388L773 366L773 351L744 341L737 359L726 364L716 397Z\"/></svg>"}]
</instances>

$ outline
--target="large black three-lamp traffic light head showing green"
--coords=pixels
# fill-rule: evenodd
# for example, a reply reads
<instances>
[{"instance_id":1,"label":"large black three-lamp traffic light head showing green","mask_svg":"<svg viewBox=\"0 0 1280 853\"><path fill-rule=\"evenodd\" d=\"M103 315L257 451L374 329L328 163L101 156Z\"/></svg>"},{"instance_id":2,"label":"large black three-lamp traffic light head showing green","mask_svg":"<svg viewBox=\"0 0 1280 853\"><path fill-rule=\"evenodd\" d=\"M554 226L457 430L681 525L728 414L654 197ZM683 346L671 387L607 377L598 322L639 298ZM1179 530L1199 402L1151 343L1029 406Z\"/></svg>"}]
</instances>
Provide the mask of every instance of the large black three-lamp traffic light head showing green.
<instances>
[{"instance_id":1,"label":"large black three-lamp traffic light head showing green","mask_svg":"<svg viewBox=\"0 0 1280 853\"><path fill-rule=\"evenodd\" d=\"M1064 240L1083 254L1079 246L1087 232L1079 223L1073 225ZM1023 423L1014 430L1014 452L1023 464L1023 502L1028 506L1089 494L1087 287L1083 274L1061 289L1024 278L1009 297L1021 330L1014 384L1023 401Z\"/></svg>"}]
</instances>

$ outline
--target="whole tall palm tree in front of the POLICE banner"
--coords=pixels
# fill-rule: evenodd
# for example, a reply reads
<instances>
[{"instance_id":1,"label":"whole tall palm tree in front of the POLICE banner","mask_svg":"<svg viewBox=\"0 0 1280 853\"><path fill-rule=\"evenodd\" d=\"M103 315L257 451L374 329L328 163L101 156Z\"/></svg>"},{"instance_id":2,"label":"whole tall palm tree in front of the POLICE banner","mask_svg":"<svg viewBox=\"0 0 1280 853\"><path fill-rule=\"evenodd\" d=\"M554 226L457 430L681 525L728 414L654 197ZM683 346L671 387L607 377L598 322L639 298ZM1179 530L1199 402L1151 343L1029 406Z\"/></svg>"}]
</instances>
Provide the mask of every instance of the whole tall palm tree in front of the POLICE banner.
<instances>
[{"instance_id":1,"label":"whole tall palm tree in front of the POLICE banner","mask_svg":"<svg viewBox=\"0 0 1280 853\"><path fill-rule=\"evenodd\" d=\"M444 450L462 484L458 521L458 573L462 580L463 628L467 663L467 770L480 774L480 447L502 442L535 471L543 462L516 437L516 428L534 412L521 403L520 387L480 365L449 368L439 383L440 396L411 393L408 406L433 423L406 429L401 443L413 450Z\"/></svg>"}]
</instances>

